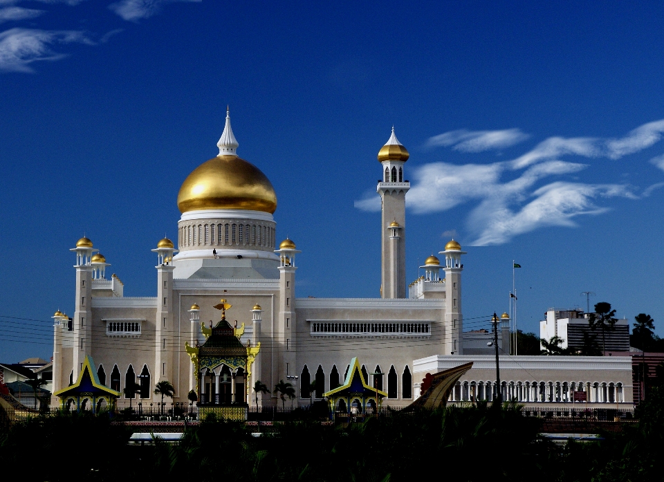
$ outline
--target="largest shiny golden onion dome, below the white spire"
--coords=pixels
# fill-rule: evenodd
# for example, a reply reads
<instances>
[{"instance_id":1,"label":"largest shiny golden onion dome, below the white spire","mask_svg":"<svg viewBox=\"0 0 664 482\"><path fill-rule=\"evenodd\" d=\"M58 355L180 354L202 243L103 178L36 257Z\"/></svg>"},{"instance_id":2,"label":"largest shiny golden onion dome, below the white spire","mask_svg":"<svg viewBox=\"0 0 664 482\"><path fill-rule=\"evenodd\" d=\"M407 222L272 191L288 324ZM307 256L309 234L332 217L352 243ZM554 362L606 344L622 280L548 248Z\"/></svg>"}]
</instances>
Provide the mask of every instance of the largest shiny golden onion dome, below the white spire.
<instances>
[{"instance_id":1,"label":"largest shiny golden onion dome, below the white spire","mask_svg":"<svg viewBox=\"0 0 664 482\"><path fill-rule=\"evenodd\" d=\"M180 212L252 210L274 213L277 195L258 167L237 156L216 156L196 167L178 193Z\"/></svg>"}]
</instances>

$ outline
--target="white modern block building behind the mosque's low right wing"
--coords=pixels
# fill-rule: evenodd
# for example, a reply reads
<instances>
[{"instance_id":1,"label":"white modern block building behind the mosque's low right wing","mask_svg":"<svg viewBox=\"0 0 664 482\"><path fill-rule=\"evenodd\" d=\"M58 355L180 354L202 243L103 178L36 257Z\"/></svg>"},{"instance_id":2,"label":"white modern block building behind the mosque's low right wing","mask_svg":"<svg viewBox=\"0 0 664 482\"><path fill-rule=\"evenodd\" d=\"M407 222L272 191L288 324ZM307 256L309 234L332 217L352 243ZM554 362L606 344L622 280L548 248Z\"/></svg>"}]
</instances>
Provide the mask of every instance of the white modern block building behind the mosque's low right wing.
<instances>
[{"instance_id":1,"label":"white modern block building behind the mosque's low right wing","mask_svg":"<svg viewBox=\"0 0 664 482\"><path fill-rule=\"evenodd\" d=\"M581 349L584 346L584 337L594 340L596 346L602 349L605 344L607 351L629 351L629 322L627 319L618 319L611 330L602 331L590 327L589 314L581 310L555 310L546 311L545 318L540 322L540 338L551 340L557 336L562 338L562 348ZM603 336L603 340L602 340Z\"/></svg>"}]
</instances>

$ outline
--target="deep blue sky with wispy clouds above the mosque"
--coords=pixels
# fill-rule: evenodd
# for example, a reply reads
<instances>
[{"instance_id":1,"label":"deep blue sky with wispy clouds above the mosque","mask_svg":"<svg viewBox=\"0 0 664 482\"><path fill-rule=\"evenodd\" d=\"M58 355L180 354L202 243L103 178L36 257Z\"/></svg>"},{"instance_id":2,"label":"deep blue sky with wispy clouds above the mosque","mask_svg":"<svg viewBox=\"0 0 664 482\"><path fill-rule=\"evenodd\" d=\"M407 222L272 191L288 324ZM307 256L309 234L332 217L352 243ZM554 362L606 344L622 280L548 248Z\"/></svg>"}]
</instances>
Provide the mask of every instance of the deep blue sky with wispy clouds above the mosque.
<instances>
[{"instance_id":1,"label":"deep blue sky with wispy clouds above the mosque","mask_svg":"<svg viewBox=\"0 0 664 482\"><path fill-rule=\"evenodd\" d=\"M467 328L507 310L515 259L519 328L593 291L663 335L663 24L657 2L0 0L0 360L50 356L84 233L154 295L150 250L227 104L298 296L378 296L394 124L408 281L458 239Z\"/></svg>"}]
</instances>

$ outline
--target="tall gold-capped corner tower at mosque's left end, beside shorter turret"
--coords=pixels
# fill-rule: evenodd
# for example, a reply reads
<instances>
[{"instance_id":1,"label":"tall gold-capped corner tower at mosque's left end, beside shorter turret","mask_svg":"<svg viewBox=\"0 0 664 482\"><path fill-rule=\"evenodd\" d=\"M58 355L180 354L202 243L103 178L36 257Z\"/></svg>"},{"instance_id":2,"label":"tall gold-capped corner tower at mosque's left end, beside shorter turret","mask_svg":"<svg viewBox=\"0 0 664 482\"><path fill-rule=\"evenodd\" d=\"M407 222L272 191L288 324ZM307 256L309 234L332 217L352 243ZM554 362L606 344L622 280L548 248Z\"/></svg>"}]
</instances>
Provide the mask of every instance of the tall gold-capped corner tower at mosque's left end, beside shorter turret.
<instances>
[{"instance_id":1,"label":"tall gold-capped corner tower at mosque's left end, beside shorter turret","mask_svg":"<svg viewBox=\"0 0 664 482\"><path fill-rule=\"evenodd\" d=\"M73 347L73 381L75 382L83 367L85 355L90 354L92 343L92 253L98 250L93 249L92 241L82 237L76 241L76 248L70 251L76 252L76 310L72 321L74 332ZM68 378L69 373L62 373ZM63 387L66 384L62 385Z\"/></svg>"}]
</instances>

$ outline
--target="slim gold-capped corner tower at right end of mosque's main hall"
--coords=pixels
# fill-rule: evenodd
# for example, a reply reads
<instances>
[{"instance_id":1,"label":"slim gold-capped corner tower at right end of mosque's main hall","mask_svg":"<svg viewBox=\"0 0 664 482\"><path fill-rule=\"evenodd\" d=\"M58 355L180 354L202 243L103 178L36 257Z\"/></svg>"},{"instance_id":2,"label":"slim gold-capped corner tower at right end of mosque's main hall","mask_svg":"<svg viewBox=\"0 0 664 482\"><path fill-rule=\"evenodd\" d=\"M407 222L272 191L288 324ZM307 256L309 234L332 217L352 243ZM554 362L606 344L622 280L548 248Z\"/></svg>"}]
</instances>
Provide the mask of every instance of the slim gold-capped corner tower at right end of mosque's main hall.
<instances>
[{"instance_id":1,"label":"slim gold-capped corner tower at right end of mosque's main hall","mask_svg":"<svg viewBox=\"0 0 664 482\"><path fill-rule=\"evenodd\" d=\"M445 256L445 355L463 355L462 333L463 314L461 313L461 245L457 241L449 241L445 245L445 251L440 254ZM447 335L449 333L449 335Z\"/></svg>"}]
</instances>

